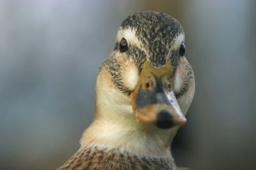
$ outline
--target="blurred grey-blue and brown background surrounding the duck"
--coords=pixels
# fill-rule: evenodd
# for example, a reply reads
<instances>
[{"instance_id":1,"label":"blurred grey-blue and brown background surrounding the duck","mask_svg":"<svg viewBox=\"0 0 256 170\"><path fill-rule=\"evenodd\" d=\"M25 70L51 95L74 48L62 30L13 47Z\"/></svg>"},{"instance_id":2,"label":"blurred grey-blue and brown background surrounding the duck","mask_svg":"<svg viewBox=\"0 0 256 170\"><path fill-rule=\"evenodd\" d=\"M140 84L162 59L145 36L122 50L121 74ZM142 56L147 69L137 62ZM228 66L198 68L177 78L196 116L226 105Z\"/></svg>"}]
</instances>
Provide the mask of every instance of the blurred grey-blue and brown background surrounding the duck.
<instances>
[{"instance_id":1,"label":"blurred grey-blue and brown background surrounding the duck","mask_svg":"<svg viewBox=\"0 0 256 170\"><path fill-rule=\"evenodd\" d=\"M128 15L186 32L196 93L173 143L179 166L255 169L255 1L0 1L0 169L56 169L93 119L94 86Z\"/></svg>"}]
</instances>

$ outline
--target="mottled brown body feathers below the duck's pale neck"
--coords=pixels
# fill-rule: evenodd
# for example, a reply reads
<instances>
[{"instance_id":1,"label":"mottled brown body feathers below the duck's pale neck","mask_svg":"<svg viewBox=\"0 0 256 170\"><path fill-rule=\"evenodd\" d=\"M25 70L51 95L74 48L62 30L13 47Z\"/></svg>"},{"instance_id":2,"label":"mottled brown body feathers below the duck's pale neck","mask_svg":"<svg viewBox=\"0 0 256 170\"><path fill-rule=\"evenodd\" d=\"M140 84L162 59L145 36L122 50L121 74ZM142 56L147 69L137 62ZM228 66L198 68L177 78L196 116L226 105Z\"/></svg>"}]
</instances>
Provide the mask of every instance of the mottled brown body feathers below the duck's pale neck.
<instances>
[{"instance_id":1,"label":"mottled brown body feathers below the duck's pale neck","mask_svg":"<svg viewBox=\"0 0 256 170\"><path fill-rule=\"evenodd\" d=\"M118 149L81 148L60 169L176 169L171 158L143 157Z\"/></svg>"}]
</instances>

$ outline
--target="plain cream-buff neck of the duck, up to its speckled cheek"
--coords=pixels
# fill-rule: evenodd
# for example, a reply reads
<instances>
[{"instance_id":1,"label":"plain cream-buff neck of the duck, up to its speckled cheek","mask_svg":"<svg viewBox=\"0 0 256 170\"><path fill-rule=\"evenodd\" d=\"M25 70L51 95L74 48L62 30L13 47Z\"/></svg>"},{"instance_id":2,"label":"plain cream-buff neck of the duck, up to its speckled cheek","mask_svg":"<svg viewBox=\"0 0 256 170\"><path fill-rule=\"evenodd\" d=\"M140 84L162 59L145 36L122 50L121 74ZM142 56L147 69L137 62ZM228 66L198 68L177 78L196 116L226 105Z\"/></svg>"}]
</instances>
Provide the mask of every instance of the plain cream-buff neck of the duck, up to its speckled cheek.
<instances>
[{"instance_id":1,"label":"plain cream-buff neck of the duck, up to its speckled cheek","mask_svg":"<svg viewBox=\"0 0 256 170\"><path fill-rule=\"evenodd\" d=\"M166 130L138 123L130 97L115 88L109 80L108 72L101 70L96 85L95 120L85 130L81 145L170 157L170 145L178 128Z\"/></svg>"}]
</instances>

